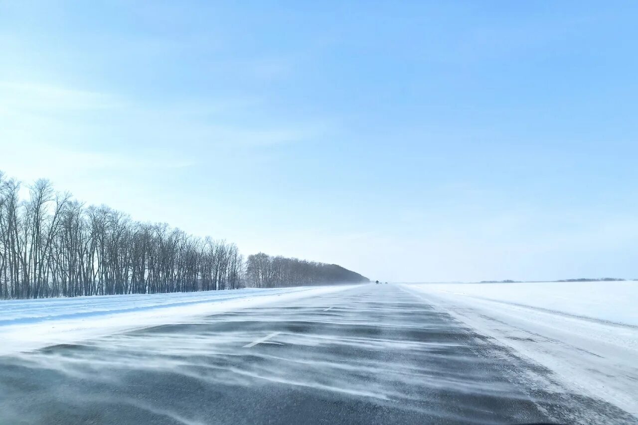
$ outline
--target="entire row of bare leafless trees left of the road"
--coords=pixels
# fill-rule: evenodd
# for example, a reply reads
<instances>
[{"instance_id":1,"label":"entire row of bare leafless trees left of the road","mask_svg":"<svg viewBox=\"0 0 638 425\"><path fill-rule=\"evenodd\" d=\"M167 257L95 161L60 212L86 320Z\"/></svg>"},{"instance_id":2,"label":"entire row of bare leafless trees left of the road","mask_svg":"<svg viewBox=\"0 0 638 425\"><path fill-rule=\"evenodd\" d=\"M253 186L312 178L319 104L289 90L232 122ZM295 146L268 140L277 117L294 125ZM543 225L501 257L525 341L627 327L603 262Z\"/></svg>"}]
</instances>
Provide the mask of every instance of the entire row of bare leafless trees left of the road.
<instances>
[{"instance_id":1,"label":"entire row of bare leafless trees left of the road","mask_svg":"<svg viewBox=\"0 0 638 425\"><path fill-rule=\"evenodd\" d=\"M20 186L0 172L0 299L367 282L335 264L245 260L234 243L85 206L48 180L25 200Z\"/></svg>"}]
</instances>

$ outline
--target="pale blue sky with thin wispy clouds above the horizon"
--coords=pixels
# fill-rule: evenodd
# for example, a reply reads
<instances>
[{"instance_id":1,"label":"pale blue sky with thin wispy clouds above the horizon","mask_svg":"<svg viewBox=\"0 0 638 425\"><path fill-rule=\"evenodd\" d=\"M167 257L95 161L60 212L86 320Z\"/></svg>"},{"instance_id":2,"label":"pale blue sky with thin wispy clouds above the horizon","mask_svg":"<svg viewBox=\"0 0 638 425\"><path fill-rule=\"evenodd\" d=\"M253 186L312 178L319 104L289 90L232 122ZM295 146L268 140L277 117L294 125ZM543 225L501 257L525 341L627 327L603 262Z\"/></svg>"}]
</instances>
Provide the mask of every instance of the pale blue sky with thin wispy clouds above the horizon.
<instances>
[{"instance_id":1,"label":"pale blue sky with thin wispy clouds above the horizon","mask_svg":"<svg viewBox=\"0 0 638 425\"><path fill-rule=\"evenodd\" d=\"M638 278L637 20L0 0L0 169L373 280Z\"/></svg>"}]
</instances>

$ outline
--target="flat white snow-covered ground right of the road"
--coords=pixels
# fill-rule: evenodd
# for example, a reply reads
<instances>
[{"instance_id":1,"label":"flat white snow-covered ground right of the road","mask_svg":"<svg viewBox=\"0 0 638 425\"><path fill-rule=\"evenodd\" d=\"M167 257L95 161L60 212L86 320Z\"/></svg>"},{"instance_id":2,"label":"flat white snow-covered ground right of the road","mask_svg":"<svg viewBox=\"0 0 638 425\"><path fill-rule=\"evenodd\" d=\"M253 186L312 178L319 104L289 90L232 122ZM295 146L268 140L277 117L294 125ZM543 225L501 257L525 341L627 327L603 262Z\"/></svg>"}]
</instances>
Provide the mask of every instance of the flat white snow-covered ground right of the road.
<instances>
[{"instance_id":1,"label":"flat white snow-covered ground right of the road","mask_svg":"<svg viewBox=\"0 0 638 425\"><path fill-rule=\"evenodd\" d=\"M551 370L560 387L638 416L636 282L401 287Z\"/></svg>"}]
</instances>

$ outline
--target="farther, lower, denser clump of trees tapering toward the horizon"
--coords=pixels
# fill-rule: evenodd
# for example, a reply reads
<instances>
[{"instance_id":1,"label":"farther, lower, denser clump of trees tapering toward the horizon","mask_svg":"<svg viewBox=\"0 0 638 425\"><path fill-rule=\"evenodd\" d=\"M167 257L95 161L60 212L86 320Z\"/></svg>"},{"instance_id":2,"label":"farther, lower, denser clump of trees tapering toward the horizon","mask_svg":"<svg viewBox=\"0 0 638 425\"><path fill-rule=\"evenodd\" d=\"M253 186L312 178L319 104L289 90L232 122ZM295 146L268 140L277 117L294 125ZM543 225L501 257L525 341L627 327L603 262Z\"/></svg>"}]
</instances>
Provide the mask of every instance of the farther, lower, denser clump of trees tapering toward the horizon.
<instances>
[{"instance_id":1,"label":"farther, lower, denser clump of trees tapering toward the horizon","mask_svg":"<svg viewBox=\"0 0 638 425\"><path fill-rule=\"evenodd\" d=\"M368 278L337 264L269 256L260 252L248 256L246 281L259 288L306 285L326 285L368 282Z\"/></svg>"}]
</instances>

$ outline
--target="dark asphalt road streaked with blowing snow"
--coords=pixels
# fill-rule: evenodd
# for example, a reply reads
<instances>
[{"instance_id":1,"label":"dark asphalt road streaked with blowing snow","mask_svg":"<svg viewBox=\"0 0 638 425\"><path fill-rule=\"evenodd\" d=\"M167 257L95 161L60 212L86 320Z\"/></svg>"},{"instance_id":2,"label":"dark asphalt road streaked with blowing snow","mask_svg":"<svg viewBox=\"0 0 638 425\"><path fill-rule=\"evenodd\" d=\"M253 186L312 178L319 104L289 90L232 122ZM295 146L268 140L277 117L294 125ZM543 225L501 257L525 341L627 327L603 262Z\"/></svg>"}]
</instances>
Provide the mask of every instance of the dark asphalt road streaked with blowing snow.
<instances>
[{"instance_id":1,"label":"dark asphalt road streaked with blowing snow","mask_svg":"<svg viewBox=\"0 0 638 425\"><path fill-rule=\"evenodd\" d=\"M1 424L632 421L395 285L0 359Z\"/></svg>"}]
</instances>

